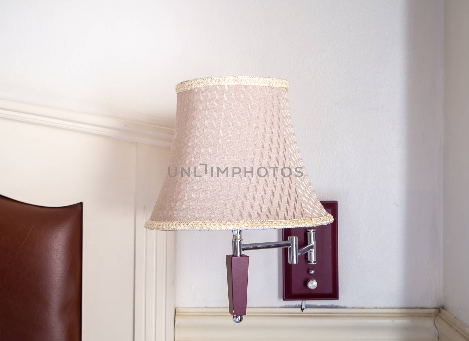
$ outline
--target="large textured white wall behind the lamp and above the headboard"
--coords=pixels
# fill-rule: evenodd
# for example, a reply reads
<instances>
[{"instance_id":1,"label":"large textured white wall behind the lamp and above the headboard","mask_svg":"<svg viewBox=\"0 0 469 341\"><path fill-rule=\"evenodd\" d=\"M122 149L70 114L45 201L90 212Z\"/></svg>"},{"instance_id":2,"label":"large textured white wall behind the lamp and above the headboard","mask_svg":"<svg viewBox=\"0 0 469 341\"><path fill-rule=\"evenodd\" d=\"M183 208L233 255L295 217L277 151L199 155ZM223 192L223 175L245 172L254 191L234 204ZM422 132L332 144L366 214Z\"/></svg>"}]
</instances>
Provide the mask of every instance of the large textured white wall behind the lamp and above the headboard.
<instances>
[{"instance_id":1,"label":"large textured white wall behind the lamp and above the headboard","mask_svg":"<svg viewBox=\"0 0 469 341\"><path fill-rule=\"evenodd\" d=\"M315 303L432 307L442 293L442 25L437 0L5 0L0 97L171 126L177 82L286 78L313 185L339 201L340 300ZM179 306L227 305L229 239L177 234ZM278 251L251 253L249 304L284 305Z\"/></svg>"}]
</instances>

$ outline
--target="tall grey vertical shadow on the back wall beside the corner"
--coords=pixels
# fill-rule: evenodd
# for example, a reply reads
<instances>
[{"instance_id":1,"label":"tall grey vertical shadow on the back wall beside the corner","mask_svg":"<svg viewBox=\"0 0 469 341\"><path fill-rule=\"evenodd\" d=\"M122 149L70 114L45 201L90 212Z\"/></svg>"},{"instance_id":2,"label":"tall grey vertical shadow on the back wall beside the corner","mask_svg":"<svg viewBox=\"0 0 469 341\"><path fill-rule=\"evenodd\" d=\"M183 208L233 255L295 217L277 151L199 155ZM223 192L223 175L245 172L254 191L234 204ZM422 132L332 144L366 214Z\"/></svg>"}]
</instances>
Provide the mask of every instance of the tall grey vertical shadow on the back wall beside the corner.
<instances>
[{"instance_id":1,"label":"tall grey vertical shadow on the back wall beside the corner","mask_svg":"<svg viewBox=\"0 0 469 341\"><path fill-rule=\"evenodd\" d=\"M402 236L406 290L401 302L406 307L422 303L434 307L442 304L443 2L408 1L407 6L406 220ZM419 290L421 287L426 290Z\"/></svg>"}]
</instances>

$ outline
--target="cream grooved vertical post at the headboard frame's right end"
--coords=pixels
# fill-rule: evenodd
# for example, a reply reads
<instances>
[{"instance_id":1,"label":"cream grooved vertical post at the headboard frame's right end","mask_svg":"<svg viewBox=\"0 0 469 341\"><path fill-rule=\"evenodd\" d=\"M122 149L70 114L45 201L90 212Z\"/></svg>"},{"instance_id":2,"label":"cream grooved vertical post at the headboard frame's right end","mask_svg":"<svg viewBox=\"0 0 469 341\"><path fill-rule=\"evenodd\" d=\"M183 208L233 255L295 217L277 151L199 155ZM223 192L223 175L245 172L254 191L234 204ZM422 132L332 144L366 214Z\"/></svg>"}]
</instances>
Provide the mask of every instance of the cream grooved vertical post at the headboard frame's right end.
<instances>
[{"instance_id":1,"label":"cream grooved vertical post at the headboard frame's right end","mask_svg":"<svg viewBox=\"0 0 469 341\"><path fill-rule=\"evenodd\" d=\"M166 161L151 157L153 146L137 148L135 211L135 341L174 340L175 232L141 228L150 218L166 173ZM163 159L169 158L166 148Z\"/></svg>"}]
</instances>

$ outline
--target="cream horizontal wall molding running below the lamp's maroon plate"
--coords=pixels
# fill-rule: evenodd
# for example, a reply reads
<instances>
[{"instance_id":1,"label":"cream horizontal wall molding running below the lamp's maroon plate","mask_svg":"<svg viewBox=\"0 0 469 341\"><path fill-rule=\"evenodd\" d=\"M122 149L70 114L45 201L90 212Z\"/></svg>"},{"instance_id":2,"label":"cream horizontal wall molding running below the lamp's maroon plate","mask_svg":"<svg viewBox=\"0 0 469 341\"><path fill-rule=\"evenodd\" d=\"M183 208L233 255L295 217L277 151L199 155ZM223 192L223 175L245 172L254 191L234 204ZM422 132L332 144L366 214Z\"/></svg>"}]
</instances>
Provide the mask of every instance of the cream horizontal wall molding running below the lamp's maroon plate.
<instances>
[{"instance_id":1,"label":"cream horizontal wall molding running below the lamp's maroon plate","mask_svg":"<svg viewBox=\"0 0 469 341\"><path fill-rule=\"evenodd\" d=\"M176 341L436 341L438 309L248 308L235 324L227 308L176 308Z\"/></svg>"}]
</instances>

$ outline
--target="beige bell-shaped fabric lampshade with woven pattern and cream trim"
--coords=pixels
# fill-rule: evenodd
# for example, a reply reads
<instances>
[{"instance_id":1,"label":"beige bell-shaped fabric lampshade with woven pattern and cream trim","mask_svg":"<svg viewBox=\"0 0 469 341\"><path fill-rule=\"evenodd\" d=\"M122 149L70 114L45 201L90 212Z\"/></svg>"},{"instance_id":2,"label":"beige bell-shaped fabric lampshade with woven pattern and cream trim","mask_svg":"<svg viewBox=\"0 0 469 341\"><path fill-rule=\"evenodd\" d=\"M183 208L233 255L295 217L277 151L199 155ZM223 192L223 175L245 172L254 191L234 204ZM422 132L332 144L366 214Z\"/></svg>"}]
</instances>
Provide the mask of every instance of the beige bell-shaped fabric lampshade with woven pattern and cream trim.
<instances>
[{"instance_id":1,"label":"beige bell-shaped fabric lampshade with woven pattern and cream trim","mask_svg":"<svg viewBox=\"0 0 469 341\"><path fill-rule=\"evenodd\" d=\"M311 187L278 78L176 85L169 167L151 230L247 230L333 221Z\"/></svg>"}]
</instances>

